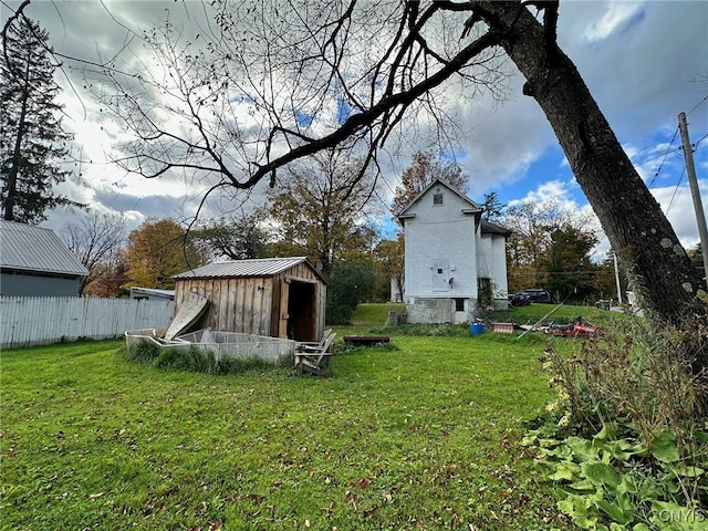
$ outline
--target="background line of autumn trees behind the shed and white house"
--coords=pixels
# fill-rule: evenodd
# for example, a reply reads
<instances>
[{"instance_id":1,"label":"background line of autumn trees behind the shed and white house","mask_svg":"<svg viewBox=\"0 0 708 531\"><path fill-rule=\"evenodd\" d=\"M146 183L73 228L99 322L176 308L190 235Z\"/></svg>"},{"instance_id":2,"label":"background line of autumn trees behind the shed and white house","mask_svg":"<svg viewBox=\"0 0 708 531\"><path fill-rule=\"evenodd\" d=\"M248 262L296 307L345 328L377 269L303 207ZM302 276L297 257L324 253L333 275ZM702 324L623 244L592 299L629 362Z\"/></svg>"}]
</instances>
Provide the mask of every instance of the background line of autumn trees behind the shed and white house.
<instances>
[{"instance_id":1,"label":"background line of autumn trees behind the shed and white house","mask_svg":"<svg viewBox=\"0 0 708 531\"><path fill-rule=\"evenodd\" d=\"M117 215L88 214L61 231L90 275L82 292L121 296L131 287L171 289L174 275L218 260L305 256L330 280L330 315L346 321L361 301L388 301L404 292L404 238L383 236L384 210L395 217L434 179L461 194L469 177L459 164L416 153L389 205L375 179L356 179L356 159L341 153L316 157L279 176L266 204L241 215L186 226L148 219L126 233ZM616 293L614 260L592 260L598 241L591 215L579 216L555 199L502 205L485 196L483 217L511 231L507 240L509 291L544 288L554 300L593 303ZM699 258L699 249L693 250ZM622 279L626 290L626 280Z\"/></svg>"}]
</instances>

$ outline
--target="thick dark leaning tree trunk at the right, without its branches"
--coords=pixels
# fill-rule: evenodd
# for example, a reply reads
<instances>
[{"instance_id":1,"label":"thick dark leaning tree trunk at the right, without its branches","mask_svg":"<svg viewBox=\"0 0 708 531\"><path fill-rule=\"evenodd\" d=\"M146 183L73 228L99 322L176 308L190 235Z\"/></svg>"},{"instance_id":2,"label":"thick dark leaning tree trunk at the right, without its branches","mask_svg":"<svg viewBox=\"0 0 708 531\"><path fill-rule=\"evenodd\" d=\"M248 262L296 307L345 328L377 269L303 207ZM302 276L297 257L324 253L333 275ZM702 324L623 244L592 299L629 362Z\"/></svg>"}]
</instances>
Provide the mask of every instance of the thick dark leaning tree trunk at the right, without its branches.
<instances>
[{"instance_id":1,"label":"thick dark leaning tree trunk at the right, without its branches","mask_svg":"<svg viewBox=\"0 0 708 531\"><path fill-rule=\"evenodd\" d=\"M652 316L680 324L705 284L573 62L518 2L473 2L527 79L633 289Z\"/></svg>"}]
</instances>

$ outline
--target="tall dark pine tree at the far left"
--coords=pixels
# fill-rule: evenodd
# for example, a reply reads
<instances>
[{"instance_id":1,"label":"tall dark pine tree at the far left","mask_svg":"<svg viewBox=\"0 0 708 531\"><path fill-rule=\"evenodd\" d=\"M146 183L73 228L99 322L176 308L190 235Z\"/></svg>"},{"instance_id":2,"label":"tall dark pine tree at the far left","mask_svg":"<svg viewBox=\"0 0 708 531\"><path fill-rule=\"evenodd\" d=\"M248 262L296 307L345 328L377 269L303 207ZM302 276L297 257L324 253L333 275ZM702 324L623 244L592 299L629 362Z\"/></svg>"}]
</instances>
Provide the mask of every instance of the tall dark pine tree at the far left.
<instances>
[{"instance_id":1,"label":"tall dark pine tree at the far left","mask_svg":"<svg viewBox=\"0 0 708 531\"><path fill-rule=\"evenodd\" d=\"M72 136L54 102L49 34L19 12L2 32L0 58L0 201L2 218L37 225L45 211L83 205L55 192L71 171L61 167Z\"/></svg>"}]
</instances>

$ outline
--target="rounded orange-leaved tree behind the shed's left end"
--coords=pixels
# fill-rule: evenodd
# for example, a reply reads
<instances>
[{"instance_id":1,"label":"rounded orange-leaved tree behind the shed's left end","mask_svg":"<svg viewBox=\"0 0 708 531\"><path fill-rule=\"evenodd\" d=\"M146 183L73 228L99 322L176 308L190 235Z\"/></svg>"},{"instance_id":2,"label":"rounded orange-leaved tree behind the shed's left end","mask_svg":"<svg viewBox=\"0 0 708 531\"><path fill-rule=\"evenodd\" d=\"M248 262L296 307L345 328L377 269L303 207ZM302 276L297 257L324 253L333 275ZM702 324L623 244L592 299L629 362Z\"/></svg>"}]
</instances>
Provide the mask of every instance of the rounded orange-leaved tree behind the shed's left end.
<instances>
[{"instance_id":1,"label":"rounded orange-leaved tree behind the shed's left end","mask_svg":"<svg viewBox=\"0 0 708 531\"><path fill-rule=\"evenodd\" d=\"M150 219L128 235L127 287L173 289L176 274L204 264L186 231L171 219Z\"/></svg>"}]
</instances>

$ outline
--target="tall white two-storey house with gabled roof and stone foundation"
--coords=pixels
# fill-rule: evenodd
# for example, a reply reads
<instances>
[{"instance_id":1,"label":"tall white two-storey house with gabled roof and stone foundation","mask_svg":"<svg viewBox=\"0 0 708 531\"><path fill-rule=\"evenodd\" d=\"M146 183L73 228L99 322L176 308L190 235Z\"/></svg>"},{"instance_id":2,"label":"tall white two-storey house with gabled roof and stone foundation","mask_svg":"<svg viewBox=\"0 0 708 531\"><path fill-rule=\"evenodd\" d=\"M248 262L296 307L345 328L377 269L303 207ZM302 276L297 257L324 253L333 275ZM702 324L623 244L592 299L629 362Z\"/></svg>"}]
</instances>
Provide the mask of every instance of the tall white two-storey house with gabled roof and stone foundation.
<instances>
[{"instance_id":1,"label":"tall white two-storey house with gabled roof and stone foundation","mask_svg":"<svg viewBox=\"0 0 708 531\"><path fill-rule=\"evenodd\" d=\"M510 232L482 220L482 210L438 179L398 216L409 323L465 324L480 309L507 308Z\"/></svg>"}]
</instances>

